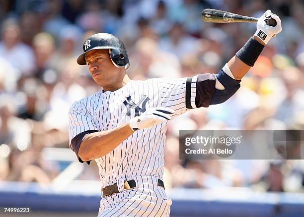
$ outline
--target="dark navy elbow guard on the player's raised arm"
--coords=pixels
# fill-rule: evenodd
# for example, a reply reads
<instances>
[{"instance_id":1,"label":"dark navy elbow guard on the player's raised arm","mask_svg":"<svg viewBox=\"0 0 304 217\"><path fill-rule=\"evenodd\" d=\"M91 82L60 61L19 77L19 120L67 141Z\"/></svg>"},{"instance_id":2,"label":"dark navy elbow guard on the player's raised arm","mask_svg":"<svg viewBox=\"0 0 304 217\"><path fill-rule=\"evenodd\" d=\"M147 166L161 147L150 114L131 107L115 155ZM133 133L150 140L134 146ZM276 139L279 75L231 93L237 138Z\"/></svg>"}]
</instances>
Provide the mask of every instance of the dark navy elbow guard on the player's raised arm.
<instances>
[{"instance_id":1,"label":"dark navy elbow guard on the player's raised arm","mask_svg":"<svg viewBox=\"0 0 304 217\"><path fill-rule=\"evenodd\" d=\"M216 105L227 101L235 92L240 88L240 81L231 78L227 75L223 69L216 74L217 79L225 87L225 90L215 90L215 93L211 99L210 105Z\"/></svg>"}]
</instances>

